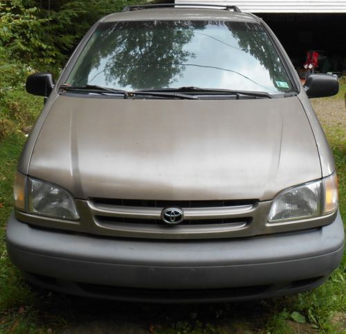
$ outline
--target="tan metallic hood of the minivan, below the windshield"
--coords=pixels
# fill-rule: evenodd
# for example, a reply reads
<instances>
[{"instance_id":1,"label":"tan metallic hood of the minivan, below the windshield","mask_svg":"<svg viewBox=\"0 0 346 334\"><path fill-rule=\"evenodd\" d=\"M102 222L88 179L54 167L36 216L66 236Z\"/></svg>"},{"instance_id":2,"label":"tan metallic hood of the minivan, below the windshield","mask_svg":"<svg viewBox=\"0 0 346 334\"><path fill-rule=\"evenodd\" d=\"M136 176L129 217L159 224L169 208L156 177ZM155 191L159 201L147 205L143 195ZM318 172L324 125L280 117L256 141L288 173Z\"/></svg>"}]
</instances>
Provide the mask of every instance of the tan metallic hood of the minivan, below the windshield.
<instances>
[{"instance_id":1,"label":"tan metallic hood of the minivan, below the windshield","mask_svg":"<svg viewBox=\"0 0 346 334\"><path fill-rule=\"evenodd\" d=\"M28 174L75 197L271 200L321 177L297 97L120 100L58 96Z\"/></svg>"}]
</instances>

